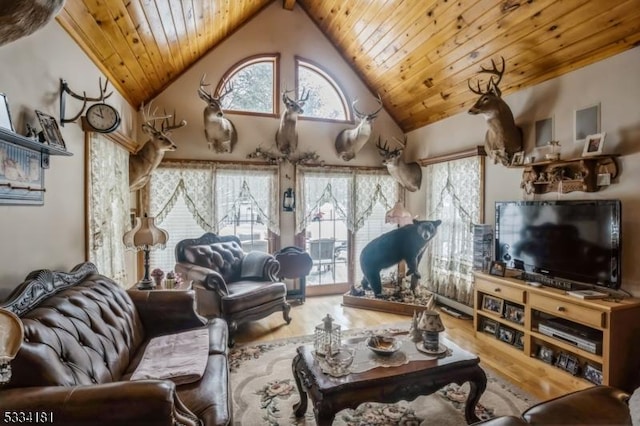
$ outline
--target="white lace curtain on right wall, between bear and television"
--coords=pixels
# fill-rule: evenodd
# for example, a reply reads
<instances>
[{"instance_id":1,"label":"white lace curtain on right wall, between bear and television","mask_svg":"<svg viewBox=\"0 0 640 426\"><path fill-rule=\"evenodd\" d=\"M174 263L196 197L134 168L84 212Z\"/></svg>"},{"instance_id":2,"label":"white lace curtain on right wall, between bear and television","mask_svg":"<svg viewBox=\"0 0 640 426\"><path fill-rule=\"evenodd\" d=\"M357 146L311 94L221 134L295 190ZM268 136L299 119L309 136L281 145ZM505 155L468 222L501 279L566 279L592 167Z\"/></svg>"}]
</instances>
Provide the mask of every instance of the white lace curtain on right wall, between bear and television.
<instances>
[{"instance_id":1,"label":"white lace curtain on right wall, between bear and television","mask_svg":"<svg viewBox=\"0 0 640 426\"><path fill-rule=\"evenodd\" d=\"M429 220L442 220L419 270L428 290L473 306L473 236L480 222L482 161L478 156L436 163L424 169Z\"/></svg>"}]
</instances>

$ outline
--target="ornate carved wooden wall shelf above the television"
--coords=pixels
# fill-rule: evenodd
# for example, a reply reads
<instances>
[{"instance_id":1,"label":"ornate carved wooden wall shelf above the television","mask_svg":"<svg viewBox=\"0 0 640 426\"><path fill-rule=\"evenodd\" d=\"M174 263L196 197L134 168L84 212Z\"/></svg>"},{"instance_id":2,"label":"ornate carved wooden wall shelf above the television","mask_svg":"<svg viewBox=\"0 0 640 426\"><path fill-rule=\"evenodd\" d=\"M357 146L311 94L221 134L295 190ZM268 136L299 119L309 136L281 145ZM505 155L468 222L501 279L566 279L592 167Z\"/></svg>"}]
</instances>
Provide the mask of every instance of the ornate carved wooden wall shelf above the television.
<instances>
[{"instance_id":1,"label":"ornate carved wooden wall shelf above the television","mask_svg":"<svg viewBox=\"0 0 640 426\"><path fill-rule=\"evenodd\" d=\"M528 194L596 192L618 176L617 155L596 155L525 164L520 187ZM598 175L608 175L599 183Z\"/></svg>"}]
</instances>

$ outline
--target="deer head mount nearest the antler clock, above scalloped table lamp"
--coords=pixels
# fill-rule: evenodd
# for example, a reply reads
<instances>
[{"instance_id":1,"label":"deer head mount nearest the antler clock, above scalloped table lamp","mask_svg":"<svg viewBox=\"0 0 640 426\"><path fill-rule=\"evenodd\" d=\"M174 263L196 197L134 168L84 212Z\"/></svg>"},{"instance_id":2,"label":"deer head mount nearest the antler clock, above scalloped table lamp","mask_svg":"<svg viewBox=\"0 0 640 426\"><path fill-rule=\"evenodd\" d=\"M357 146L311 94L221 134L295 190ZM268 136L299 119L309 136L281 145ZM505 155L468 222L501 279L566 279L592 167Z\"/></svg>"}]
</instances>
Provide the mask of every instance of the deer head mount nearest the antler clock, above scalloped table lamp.
<instances>
[{"instance_id":1,"label":"deer head mount nearest the antler clock, above scalloped table lamp","mask_svg":"<svg viewBox=\"0 0 640 426\"><path fill-rule=\"evenodd\" d=\"M156 111L151 113L151 103L145 111L142 105L144 124L142 130L149 134L151 139L142 145L135 154L129 156L129 191L137 191L144 187L151 179L151 173L158 167L166 151L175 151L176 145L169 137L169 132L173 129L187 125L185 120L176 124L175 111L173 115L155 116ZM173 117L173 123L169 123L169 118ZM156 124L160 120L162 126L156 129Z\"/></svg>"}]
</instances>

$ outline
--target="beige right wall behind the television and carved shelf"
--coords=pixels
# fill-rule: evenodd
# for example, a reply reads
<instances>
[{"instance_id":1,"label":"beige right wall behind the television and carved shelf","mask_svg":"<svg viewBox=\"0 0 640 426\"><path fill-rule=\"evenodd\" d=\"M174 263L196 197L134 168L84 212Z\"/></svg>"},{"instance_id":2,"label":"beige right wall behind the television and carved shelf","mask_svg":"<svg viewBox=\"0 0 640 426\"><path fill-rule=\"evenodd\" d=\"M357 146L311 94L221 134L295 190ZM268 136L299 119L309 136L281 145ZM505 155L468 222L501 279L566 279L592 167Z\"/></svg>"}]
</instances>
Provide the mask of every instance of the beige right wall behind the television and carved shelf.
<instances>
[{"instance_id":1,"label":"beige right wall behind the television and carved shelf","mask_svg":"<svg viewBox=\"0 0 640 426\"><path fill-rule=\"evenodd\" d=\"M601 131L606 132L604 153L620 154L619 177L595 193L549 193L526 199L622 200L622 288L640 296L640 47L584 67L505 97L516 123L525 132L526 155L540 158L533 149L532 126L536 120L554 117L555 138L562 157L580 156L583 144L574 143L574 111L600 103ZM508 72L508 70L507 70ZM482 145L487 129L484 118L461 113L409 134L409 158L433 157ZM486 166L485 218L495 221L495 202L522 200L521 169ZM424 194L411 194L409 207L424 214Z\"/></svg>"}]
</instances>

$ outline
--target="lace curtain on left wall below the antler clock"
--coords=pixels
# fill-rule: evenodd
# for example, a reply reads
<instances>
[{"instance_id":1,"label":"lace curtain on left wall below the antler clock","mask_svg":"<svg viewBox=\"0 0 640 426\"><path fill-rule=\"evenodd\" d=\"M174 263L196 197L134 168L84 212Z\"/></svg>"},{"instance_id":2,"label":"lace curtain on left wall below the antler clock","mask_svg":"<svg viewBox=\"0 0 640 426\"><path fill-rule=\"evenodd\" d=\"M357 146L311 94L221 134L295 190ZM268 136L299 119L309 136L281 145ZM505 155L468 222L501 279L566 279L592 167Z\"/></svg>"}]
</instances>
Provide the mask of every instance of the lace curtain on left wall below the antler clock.
<instances>
[{"instance_id":1,"label":"lace curtain on left wall below the antler clock","mask_svg":"<svg viewBox=\"0 0 640 426\"><path fill-rule=\"evenodd\" d=\"M89 144L89 260L126 286L122 236L131 228L129 153L99 133L90 133Z\"/></svg>"}]
</instances>

